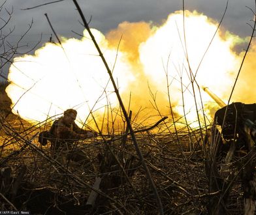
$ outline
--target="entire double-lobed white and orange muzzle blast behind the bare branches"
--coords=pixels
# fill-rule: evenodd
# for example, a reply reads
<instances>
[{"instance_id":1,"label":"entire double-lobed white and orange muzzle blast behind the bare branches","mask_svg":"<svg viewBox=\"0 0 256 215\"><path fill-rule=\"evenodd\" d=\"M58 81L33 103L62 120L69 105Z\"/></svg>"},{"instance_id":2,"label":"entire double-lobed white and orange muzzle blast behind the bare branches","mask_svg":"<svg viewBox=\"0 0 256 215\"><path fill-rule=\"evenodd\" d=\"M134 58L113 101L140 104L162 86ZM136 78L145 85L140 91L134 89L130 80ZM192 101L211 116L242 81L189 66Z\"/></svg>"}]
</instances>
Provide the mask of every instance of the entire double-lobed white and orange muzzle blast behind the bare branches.
<instances>
[{"instance_id":1,"label":"entire double-lobed white and orange muzzle blast behind the bare branches","mask_svg":"<svg viewBox=\"0 0 256 215\"><path fill-rule=\"evenodd\" d=\"M169 115L168 77L171 104L176 113L184 115L182 78L185 114L189 122L197 121L186 53L190 71L193 76L196 74L193 84L198 108L202 109L198 89L201 85L227 100L240 66L240 55L236 55L232 48L244 40L219 30L206 52L217 23L203 14L189 11L185 11L184 23L185 37L182 11L170 14L159 27L145 22L121 23L106 38L92 29L110 68L114 66L118 42L123 35L114 76L125 104L128 104L129 93L132 93L131 109L152 106L151 90L153 94L158 92L156 103L159 111L162 115ZM74 107L78 109L80 119L86 119L89 108L103 94L109 77L86 31L84 36L81 40L63 38L63 48L47 43L35 51L35 55L25 55L14 60L8 74L12 84L7 89L13 104L17 103L14 112L18 111L25 119L44 121L48 112L52 116ZM118 106L116 95L112 92L112 84L109 83L107 99L112 107ZM201 96L208 113L212 108L209 105L211 99L204 92L201 92ZM104 107L107 99L104 94L94 109ZM104 108L101 108L103 111ZM148 114L154 115L155 112L148 109Z\"/></svg>"}]
</instances>

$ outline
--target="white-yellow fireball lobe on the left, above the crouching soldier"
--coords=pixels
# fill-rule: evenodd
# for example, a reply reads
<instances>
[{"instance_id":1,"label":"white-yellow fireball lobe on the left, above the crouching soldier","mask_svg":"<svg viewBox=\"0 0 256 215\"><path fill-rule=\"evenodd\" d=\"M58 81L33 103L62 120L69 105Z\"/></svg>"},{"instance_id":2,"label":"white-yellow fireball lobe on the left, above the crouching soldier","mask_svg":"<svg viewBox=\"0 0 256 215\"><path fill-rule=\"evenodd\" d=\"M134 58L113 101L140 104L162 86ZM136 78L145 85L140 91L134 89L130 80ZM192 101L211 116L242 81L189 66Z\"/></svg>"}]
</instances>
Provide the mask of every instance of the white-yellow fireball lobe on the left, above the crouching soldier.
<instances>
[{"instance_id":1,"label":"white-yellow fireball lobe on the left, above the crouching soldier","mask_svg":"<svg viewBox=\"0 0 256 215\"><path fill-rule=\"evenodd\" d=\"M110 67L113 66L116 50L108 49L107 41L99 31L92 29L92 32ZM8 87L8 96L15 104L27 89L29 91L18 101L14 111L33 121L44 121L48 113L56 115L71 107L78 109L82 119L88 115L88 107L92 108L104 92L108 74L87 32L84 34L82 40L64 40L63 48L48 43L33 56L16 57L8 74L8 79L15 84ZM114 76L118 78L120 91L133 79L129 76L129 64L125 63L123 53L118 53ZM112 85L108 85L108 99L116 102L112 92ZM104 97L105 94L95 109L106 104Z\"/></svg>"}]
</instances>

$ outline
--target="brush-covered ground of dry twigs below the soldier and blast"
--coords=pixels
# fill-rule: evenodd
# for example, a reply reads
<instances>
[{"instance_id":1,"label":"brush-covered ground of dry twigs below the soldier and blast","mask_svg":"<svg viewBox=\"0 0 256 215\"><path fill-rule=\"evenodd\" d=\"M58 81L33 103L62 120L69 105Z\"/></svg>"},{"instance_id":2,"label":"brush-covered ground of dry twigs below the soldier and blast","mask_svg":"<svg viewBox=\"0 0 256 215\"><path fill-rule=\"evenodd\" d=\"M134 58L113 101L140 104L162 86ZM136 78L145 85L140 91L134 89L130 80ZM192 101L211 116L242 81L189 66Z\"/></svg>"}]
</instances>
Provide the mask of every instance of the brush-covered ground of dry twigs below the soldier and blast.
<instances>
[{"instance_id":1,"label":"brush-covered ground of dry twigs below the soldier and blast","mask_svg":"<svg viewBox=\"0 0 256 215\"><path fill-rule=\"evenodd\" d=\"M129 135L78 141L74 151L83 151L88 158L82 164L63 160L61 154L54 159L50 143L42 147L37 142L44 124L32 126L13 114L5 118L10 100L1 92L0 164L1 180L5 180L1 210L16 208L32 214L158 213L155 195ZM165 214L208 214L209 205L221 194L209 186L208 147L202 146L200 130L189 135L181 129L178 136L174 130L161 134L147 131L136 138ZM232 170L237 176L234 166ZM99 179L101 183L93 188ZM88 204L91 189L98 194ZM225 210L241 214L239 177L232 178L229 192Z\"/></svg>"}]
</instances>

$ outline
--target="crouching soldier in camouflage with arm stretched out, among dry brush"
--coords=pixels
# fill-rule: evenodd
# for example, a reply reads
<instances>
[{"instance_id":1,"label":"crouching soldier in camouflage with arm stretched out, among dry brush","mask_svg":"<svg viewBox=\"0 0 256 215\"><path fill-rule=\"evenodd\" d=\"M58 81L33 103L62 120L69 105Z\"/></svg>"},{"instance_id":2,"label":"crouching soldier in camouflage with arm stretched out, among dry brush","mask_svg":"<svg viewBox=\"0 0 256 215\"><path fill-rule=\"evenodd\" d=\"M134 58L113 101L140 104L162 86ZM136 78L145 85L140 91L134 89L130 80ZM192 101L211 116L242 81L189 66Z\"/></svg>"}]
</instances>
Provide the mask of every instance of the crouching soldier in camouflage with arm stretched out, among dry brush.
<instances>
[{"instance_id":1,"label":"crouching soldier in camouflage with arm stretched out, among dry brush","mask_svg":"<svg viewBox=\"0 0 256 215\"><path fill-rule=\"evenodd\" d=\"M74 141L96 137L96 132L83 130L74 122L77 112L74 109L64 111L63 117L54 121L50 128L51 150L54 158L61 158L61 162L71 159L84 162L87 156L84 152L74 148Z\"/></svg>"}]
</instances>

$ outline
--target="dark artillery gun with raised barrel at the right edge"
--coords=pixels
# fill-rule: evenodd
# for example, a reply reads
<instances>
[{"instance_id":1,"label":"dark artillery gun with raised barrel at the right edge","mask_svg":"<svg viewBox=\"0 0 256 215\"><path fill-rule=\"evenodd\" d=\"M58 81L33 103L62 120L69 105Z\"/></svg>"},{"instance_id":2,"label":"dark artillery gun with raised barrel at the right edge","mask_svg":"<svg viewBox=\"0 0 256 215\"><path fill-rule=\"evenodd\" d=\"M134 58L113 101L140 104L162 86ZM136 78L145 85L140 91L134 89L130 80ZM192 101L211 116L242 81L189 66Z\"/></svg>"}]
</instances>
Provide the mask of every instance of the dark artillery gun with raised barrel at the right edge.
<instances>
[{"instance_id":1,"label":"dark artillery gun with raised barrel at the right edge","mask_svg":"<svg viewBox=\"0 0 256 215\"><path fill-rule=\"evenodd\" d=\"M208 87L202 89L221 107L214 115L210 134L206 134L209 191L217 192L209 201L209 212L227 214L229 194L234 179L238 178L244 192L244 214L255 214L256 104L234 102L226 105Z\"/></svg>"}]
</instances>

